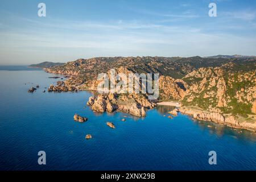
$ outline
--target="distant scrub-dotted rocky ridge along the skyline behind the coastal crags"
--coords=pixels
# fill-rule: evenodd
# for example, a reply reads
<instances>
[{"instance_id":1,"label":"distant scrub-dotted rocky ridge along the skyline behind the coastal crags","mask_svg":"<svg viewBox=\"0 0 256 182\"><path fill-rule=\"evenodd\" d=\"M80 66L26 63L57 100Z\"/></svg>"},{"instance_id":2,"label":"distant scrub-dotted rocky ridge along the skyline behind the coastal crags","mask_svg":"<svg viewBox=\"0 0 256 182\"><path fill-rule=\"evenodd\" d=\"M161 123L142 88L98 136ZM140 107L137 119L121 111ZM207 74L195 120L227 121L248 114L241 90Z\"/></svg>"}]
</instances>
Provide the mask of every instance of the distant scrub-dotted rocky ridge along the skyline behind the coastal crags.
<instances>
[{"instance_id":1,"label":"distant scrub-dotted rocky ridge along the skyline behind the coastal crags","mask_svg":"<svg viewBox=\"0 0 256 182\"><path fill-rule=\"evenodd\" d=\"M204 58L204 57L95 57L91 59L78 59L68 62L51 71L60 73L73 73L75 75L96 76L106 73L111 68L126 67L137 73L160 73L160 75L182 78L197 68L220 67L222 64L234 63L236 69L245 66L250 69L255 64L256 57L246 58ZM69 72L69 73L68 73ZM78 73L78 74L77 74Z\"/></svg>"}]
</instances>

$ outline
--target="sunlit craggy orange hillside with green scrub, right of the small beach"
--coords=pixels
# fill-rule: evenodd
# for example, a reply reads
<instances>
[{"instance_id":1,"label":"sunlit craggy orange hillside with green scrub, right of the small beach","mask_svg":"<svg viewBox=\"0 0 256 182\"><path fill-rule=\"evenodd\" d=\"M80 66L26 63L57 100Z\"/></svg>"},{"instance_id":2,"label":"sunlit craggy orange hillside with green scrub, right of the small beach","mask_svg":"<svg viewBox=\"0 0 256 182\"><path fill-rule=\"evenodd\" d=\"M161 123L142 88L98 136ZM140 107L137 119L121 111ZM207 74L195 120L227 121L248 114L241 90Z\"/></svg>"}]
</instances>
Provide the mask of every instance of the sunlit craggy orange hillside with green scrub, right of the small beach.
<instances>
[{"instance_id":1,"label":"sunlit craggy orange hillside with green scrub, right of the small beach","mask_svg":"<svg viewBox=\"0 0 256 182\"><path fill-rule=\"evenodd\" d=\"M224 114L254 114L256 70L233 71L233 66L200 68L183 78L188 89L182 103Z\"/></svg>"}]
</instances>

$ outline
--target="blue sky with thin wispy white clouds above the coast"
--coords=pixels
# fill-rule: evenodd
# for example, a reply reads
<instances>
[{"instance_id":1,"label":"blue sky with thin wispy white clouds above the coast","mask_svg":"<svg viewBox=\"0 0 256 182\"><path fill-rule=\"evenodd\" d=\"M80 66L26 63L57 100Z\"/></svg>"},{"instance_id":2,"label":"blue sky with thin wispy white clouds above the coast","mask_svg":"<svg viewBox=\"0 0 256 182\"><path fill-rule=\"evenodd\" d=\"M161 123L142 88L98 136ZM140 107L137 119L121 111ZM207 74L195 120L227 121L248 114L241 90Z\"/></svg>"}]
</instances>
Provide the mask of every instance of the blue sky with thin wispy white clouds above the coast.
<instances>
[{"instance_id":1,"label":"blue sky with thin wispy white clouds above the coast","mask_svg":"<svg viewBox=\"0 0 256 182\"><path fill-rule=\"evenodd\" d=\"M0 64L218 54L256 55L256 1L0 1Z\"/></svg>"}]
</instances>

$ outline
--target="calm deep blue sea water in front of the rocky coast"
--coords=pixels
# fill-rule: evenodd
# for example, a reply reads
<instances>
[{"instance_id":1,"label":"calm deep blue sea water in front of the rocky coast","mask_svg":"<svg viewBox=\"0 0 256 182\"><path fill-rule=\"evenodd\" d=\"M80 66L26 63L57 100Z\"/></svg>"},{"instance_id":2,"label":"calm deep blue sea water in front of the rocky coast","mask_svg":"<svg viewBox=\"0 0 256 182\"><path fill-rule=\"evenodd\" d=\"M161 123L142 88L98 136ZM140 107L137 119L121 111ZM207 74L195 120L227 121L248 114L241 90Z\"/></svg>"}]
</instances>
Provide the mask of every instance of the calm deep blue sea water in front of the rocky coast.
<instances>
[{"instance_id":1,"label":"calm deep blue sea water in front of the rocky coast","mask_svg":"<svg viewBox=\"0 0 256 182\"><path fill-rule=\"evenodd\" d=\"M170 108L164 106L148 110L146 118L98 115L86 106L90 92L43 93L57 81L48 78L52 74L17 66L0 70L1 170L256 169L256 136L249 131L181 114L169 119L163 115ZM40 88L28 93L36 84ZM73 121L75 113L88 121ZM106 126L108 121L116 129ZM86 140L86 134L93 139ZM38 164L41 150L45 166ZM213 166L208 163L212 150L217 152Z\"/></svg>"}]
</instances>

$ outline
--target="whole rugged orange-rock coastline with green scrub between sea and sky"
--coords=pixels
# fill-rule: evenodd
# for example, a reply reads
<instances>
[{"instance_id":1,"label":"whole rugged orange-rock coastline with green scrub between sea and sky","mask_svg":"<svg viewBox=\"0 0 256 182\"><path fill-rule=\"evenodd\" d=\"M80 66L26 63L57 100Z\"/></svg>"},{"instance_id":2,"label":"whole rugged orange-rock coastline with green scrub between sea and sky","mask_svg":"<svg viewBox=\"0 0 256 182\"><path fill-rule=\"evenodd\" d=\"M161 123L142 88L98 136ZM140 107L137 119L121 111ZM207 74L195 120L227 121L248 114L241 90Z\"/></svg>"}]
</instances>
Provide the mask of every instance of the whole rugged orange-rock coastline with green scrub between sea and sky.
<instances>
[{"instance_id":1,"label":"whole rugged orange-rock coastline with green scrub between sea and sky","mask_svg":"<svg viewBox=\"0 0 256 182\"><path fill-rule=\"evenodd\" d=\"M57 85L50 85L48 92L97 90L98 73L109 74L112 68L116 73L124 74L159 73L158 101L148 100L146 94L96 94L89 98L87 105L95 112L121 111L145 117L146 109L154 108L157 102L162 101L162 105L166 105L165 102L172 100L176 107L179 102L180 113L195 119L256 131L256 59L209 61L198 56L180 59L183 62L173 62L164 57L79 59L45 69L48 73L67 77ZM201 61L201 65L205 63L204 67L196 67L194 63L197 61ZM212 63L218 63L218 66ZM242 69L240 65L248 67ZM177 76L181 72L183 75ZM170 111L170 114L175 116L177 112Z\"/></svg>"}]
</instances>

